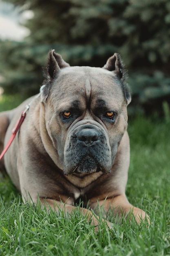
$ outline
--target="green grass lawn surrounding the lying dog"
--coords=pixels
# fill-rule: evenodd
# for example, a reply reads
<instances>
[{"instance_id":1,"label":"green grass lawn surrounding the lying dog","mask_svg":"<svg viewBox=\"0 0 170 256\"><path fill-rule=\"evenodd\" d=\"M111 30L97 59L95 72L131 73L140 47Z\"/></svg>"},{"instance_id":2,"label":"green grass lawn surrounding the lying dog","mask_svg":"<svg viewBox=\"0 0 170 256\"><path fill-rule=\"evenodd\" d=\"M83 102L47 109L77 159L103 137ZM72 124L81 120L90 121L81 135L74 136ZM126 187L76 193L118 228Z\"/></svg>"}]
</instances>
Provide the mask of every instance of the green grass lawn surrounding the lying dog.
<instances>
[{"instance_id":1,"label":"green grass lawn surrounding the lying dog","mask_svg":"<svg viewBox=\"0 0 170 256\"><path fill-rule=\"evenodd\" d=\"M0 100L0 111L16 106ZM147 227L123 220L113 229L94 227L79 213L64 218L23 204L8 177L0 175L0 256L170 255L170 117L129 122L131 164L126 194L150 216Z\"/></svg>"}]
</instances>

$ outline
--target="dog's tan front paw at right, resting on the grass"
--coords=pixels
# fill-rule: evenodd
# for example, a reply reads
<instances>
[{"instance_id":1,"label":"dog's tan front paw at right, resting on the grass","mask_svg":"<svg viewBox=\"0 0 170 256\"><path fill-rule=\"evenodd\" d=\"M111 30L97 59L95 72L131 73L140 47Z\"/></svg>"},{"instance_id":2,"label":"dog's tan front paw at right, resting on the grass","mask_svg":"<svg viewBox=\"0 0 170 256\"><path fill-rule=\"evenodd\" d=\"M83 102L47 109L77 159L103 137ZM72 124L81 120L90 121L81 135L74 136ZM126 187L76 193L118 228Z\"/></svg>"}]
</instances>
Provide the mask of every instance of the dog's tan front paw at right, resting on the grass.
<instances>
[{"instance_id":1,"label":"dog's tan front paw at right, resting on the grass","mask_svg":"<svg viewBox=\"0 0 170 256\"><path fill-rule=\"evenodd\" d=\"M133 215L138 224L141 223L141 220L145 219L148 220L148 223L150 223L149 216L143 210L132 206L132 204L128 202L126 195L117 195L111 199L100 200L98 204L97 202L93 202L90 203L90 207L94 209L96 213L103 209L103 212L106 215L109 209L111 209L111 211L113 211L114 216L118 215L120 217L127 217L130 214L130 219L132 218Z\"/></svg>"}]
</instances>

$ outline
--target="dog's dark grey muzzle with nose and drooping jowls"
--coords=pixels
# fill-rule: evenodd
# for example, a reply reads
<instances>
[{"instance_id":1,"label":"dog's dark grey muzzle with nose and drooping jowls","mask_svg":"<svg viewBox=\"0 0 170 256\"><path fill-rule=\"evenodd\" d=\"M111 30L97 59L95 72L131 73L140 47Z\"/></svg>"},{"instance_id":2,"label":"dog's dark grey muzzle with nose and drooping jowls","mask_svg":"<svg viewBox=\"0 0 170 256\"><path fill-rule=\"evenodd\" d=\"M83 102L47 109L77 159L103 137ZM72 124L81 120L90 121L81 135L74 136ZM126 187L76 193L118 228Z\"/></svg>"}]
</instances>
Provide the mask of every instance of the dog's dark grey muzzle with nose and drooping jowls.
<instances>
[{"instance_id":1,"label":"dog's dark grey muzzle with nose and drooping jowls","mask_svg":"<svg viewBox=\"0 0 170 256\"><path fill-rule=\"evenodd\" d=\"M108 173L111 149L104 128L98 124L77 125L68 133L64 148L64 173Z\"/></svg>"}]
</instances>

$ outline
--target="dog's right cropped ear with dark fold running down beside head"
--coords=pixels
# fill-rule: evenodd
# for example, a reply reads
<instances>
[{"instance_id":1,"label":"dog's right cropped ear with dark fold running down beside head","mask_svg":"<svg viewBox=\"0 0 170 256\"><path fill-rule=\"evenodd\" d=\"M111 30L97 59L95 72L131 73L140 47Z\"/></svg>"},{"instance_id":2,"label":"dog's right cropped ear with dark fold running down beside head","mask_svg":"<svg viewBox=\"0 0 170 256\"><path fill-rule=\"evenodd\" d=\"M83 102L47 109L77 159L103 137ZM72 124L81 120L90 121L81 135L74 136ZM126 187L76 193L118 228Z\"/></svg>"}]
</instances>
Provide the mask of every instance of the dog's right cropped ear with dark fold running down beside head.
<instances>
[{"instance_id":1,"label":"dog's right cropped ear with dark fold running down beside head","mask_svg":"<svg viewBox=\"0 0 170 256\"><path fill-rule=\"evenodd\" d=\"M121 57L118 53L115 53L113 56L108 58L106 64L104 67L106 70L113 71L118 76L118 78L122 81L124 94L126 97L127 105L131 101L131 95L130 90L128 88L128 85L125 82L125 79L127 78L127 70L125 68L125 65L123 61L121 60Z\"/></svg>"}]
</instances>

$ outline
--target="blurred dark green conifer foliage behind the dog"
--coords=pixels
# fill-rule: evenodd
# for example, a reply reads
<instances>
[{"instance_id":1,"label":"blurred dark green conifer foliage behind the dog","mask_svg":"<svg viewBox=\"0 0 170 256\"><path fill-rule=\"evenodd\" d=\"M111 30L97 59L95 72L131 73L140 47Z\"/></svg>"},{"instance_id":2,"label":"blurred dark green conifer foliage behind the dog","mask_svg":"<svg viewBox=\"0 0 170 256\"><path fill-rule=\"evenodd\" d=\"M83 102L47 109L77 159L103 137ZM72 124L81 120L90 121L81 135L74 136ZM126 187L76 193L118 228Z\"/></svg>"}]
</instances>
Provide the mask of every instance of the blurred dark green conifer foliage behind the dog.
<instances>
[{"instance_id":1,"label":"blurred dark green conifer foliage behind the dog","mask_svg":"<svg viewBox=\"0 0 170 256\"><path fill-rule=\"evenodd\" d=\"M34 13L25 24L31 33L23 42L0 41L0 85L6 93L37 93L50 49L70 65L99 67L119 52L129 70L129 112L161 113L163 104L170 103L169 0L6 2Z\"/></svg>"}]
</instances>

